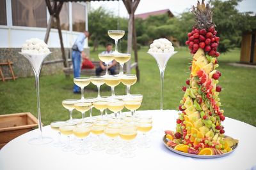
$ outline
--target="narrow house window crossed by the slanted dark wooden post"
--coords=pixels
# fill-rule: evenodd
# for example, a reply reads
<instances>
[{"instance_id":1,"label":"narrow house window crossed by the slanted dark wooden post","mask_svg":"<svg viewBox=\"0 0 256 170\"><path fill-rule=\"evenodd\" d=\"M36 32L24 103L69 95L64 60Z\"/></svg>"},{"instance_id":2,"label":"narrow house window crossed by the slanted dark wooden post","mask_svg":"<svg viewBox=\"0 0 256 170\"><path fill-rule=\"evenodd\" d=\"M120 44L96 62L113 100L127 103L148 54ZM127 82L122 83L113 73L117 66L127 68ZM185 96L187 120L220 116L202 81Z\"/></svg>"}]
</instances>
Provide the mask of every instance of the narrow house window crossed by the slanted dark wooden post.
<instances>
[{"instance_id":1,"label":"narrow house window crossed by the slanted dark wooden post","mask_svg":"<svg viewBox=\"0 0 256 170\"><path fill-rule=\"evenodd\" d=\"M60 11L60 25L62 30L69 30L68 3L63 3ZM52 28L58 28L56 18L52 20Z\"/></svg>"}]
</instances>

